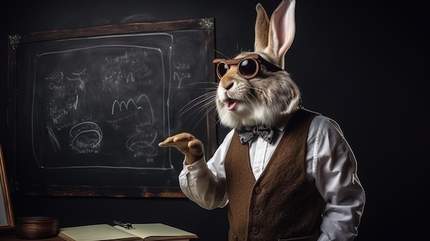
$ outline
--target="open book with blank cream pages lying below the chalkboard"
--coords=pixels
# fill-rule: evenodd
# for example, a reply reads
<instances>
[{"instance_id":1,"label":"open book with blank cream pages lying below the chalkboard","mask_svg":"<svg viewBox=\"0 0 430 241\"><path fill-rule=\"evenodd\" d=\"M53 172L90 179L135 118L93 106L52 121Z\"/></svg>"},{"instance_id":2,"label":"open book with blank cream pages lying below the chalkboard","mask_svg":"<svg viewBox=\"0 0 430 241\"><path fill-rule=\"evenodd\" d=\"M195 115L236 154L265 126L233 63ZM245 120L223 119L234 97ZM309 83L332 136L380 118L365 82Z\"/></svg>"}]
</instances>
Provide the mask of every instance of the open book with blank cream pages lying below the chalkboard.
<instances>
[{"instance_id":1,"label":"open book with blank cream pages lying below the chalkboard","mask_svg":"<svg viewBox=\"0 0 430 241\"><path fill-rule=\"evenodd\" d=\"M67 241L151 241L151 240L183 240L199 238L194 233L177 229L162 223L133 224L126 229L120 225L86 225L60 228L58 237Z\"/></svg>"}]
</instances>

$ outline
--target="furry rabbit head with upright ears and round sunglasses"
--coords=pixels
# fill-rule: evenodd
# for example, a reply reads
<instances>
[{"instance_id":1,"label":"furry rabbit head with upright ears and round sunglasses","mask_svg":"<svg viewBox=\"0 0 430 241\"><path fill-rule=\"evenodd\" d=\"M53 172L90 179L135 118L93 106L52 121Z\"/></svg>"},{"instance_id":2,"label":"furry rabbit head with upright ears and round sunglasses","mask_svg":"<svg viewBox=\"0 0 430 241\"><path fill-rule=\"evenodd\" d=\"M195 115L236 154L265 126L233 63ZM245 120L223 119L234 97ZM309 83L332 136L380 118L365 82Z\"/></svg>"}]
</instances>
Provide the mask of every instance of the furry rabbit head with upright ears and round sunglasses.
<instances>
[{"instance_id":1,"label":"furry rabbit head with upright ears and round sunglasses","mask_svg":"<svg viewBox=\"0 0 430 241\"><path fill-rule=\"evenodd\" d=\"M214 60L216 109L220 123L230 128L274 126L299 108L299 87L284 71L295 35L295 1L283 0L270 19L260 3L256 12L254 51Z\"/></svg>"}]
</instances>

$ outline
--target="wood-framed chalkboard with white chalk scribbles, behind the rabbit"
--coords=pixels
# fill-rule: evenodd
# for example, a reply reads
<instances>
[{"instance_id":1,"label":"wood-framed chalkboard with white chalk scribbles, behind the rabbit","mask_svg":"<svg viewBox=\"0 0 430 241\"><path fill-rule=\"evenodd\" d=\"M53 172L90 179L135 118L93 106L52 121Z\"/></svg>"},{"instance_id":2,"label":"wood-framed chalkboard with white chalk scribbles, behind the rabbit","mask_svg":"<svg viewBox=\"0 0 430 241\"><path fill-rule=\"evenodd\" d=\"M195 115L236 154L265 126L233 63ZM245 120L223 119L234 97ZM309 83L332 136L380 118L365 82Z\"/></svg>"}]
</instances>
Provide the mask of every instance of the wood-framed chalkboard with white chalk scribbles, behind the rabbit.
<instances>
[{"instance_id":1,"label":"wood-framed chalkboard with white chalk scribbles, behind the rabbit","mask_svg":"<svg viewBox=\"0 0 430 241\"><path fill-rule=\"evenodd\" d=\"M207 154L212 154L216 149L214 109L203 104L200 108L193 107L193 103L196 104L199 101L198 96L207 95L211 88L213 90L215 83L212 63L214 19L126 23L34 32L10 35L8 41L8 156L14 162L11 165L14 192L45 196L185 197L177 183L177 174L182 168L182 154L174 148L159 148L163 149L159 150L154 145L168 135L187 131L194 133L205 142ZM70 56L70 53L74 55ZM84 71L90 73L87 68L80 69L79 73L75 71L78 68L73 69L75 72L71 72L72 77L66 76L64 69L69 66L76 67L82 62L86 64L95 62L94 65L102 62L102 70L98 65L98 69L91 72L95 74L100 72L102 77L98 76L94 81L97 84L91 83L93 80L89 80L89 74L82 77ZM118 67L119 63L123 64L123 69ZM58 71L60 64L69 66L62 67L62 71ZM131 69L131 65L136 69ZM124 77L126 76L124 66L130 73L133 72L134 76L130 77L129 73L128 77ZM114 67L115 71L109 72L111 82L108 86L107 69ZM48 72L41 71L44 68L52 72L47 74ZM138 72L141 80L137 80ZM116 75L115 81L112 77L114 75ZM150 75L154 79L147 77ZM76 84L73 87L70 87L70 84L61 86L58 84L66 80L68 83L73 81L73 84L79 82L80 87L78 88ZM133 88L122 92L119 91L121 87L113 86L114 82L123 84L125 80L127 83L140 81L140 85L135 84ZM104 125L117 136L125 132L121 132L121 128L128 128L125 125L121 126L122 122L133 124L138 137L135 137L136 135L130 137L127 144L134 141L133 151L137 146L141 148L139 152L122 156L124 151L116 149L119 146L116 142L119 141L115 138L104 142L105 145L109 144L109 148L100 150L102 133L106 132L96 126L97 117L92 113L82 114L83 117L78 118L73 114L73 119L69 117L72 111L78 110L78 97L80 97L79 104L83 102L82 99L85 100L85 97L81 97L84 95L82 90L86 90L89 84L92 84L93 89L91 89L92 92L85 91L85 96L88 96L89 92L96 92L93 95L98 97L91 97L91 100L86 100L86 104L94 105L88 108L95 112L99 111L100 102L111 97L106 93L113 92L112 95L120 96L117 99L121 99L122 95L134 93L135 89L143 93L138 98L127 97L128 101L126 98L115 100L115 108L129 108L134 104L136 110L133 110L133 113L108 121L106 116L98 119L106 122ZM147 88L142 87L145 84ZM74 103L67 102L71 99L68 93L73 91L76 93L76 97L73 97ZM100 94L97 91L103 93ZM54 92L56 97L49 99L54 96ZM138 106L135 102L139 100L141 102L145 100L149 104L145 107L142 107L143 104ZM58 104L59 102L61 104ZM154 103L151 104L151 102ZM67 105L67 110L63 104ZM150 122L141 117L135 117L143 115L138 113L143 109L142 113L145 115L152 113ZM114 107L112 107L112 115L113 110ZM46 113L50 113L49 118L45 117L48 115ZM159 118L154 118L154 115L158 115ZM126 121L133 118L138 120ZM45 119L49 119L49 122ZM52 128L52 119L57 124L54 128ZM58 125L60 122L63 124ZM153 129L145 129L145 125ZM80 134L73 137L74 142L70 141L68 145L63 145L60 138L64 137L56 135L60 135L60 131L66 129L69 135L73 132ZM83 139L79 136L82 133L91 133L91 136ZM115 135L112 136L115 137ZM88 146L89 144L84 141L93 141L92 146ZM85 144L87 146L84 146ZM152 146L148 151L150 144ZM99 149L95 150L94 147ZM130 146L127 148L132 149ZM110 160L111 156L117 159ZM111 163L100 164L106 160ZM84 161L91 164L86 164ZM73 165L58 164L62 162L73 162Z\"/></svg>"}]
</instances>

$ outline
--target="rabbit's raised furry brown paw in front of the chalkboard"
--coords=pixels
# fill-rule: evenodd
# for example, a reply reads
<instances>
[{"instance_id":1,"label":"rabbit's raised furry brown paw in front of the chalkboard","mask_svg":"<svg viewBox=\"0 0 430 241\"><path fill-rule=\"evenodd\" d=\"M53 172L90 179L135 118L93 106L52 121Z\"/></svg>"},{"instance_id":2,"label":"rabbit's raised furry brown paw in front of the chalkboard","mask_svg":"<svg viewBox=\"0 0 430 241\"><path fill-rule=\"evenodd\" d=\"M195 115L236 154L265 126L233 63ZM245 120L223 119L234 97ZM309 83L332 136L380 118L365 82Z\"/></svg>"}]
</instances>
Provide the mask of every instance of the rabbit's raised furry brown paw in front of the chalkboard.
<instances>
[{"instance_id":1,"label":"rabbit's raised furry brown paw in front of the chalkboard","mask_svg":"<svg viewBox=\"0 0 430 241\"><path fill-rule=\"evenodd\" d=\"M158 144L159 147L174 147L185 155L185 164L191 165L199 161L205 154L203 143L190 133L179 133L166 138Z\"/></svg>"}]
</instances>

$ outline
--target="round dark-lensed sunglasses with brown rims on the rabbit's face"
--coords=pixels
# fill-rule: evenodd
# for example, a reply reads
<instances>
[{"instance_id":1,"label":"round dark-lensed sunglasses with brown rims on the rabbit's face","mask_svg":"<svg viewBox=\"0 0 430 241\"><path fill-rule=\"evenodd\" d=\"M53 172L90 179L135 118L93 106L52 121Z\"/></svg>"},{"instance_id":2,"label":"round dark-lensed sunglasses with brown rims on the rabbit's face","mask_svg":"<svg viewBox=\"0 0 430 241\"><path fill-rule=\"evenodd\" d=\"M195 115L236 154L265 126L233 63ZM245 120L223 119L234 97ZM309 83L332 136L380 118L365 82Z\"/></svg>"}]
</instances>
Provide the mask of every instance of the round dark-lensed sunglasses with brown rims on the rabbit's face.
<instances>
[{"instance_id":1,"label":"round dark-lensed sunglasses with brown rims on the rabbit's face","mask_svg":"<svg viewBox=\"0 0 430 241\"><path fill-rule=\"evenodd\" d=\"M249 54L243 58L234 58L226 60L224 58L214 59L216 64L216 75L219 79L223 78L225 73L229 70L230 65L237 65L237 71L242 78L249 80L260 73L264 65L268 71L284 71L284 69L273 65L271 62L265 60L259 54Z\"/></svg>"}]
</instances>

